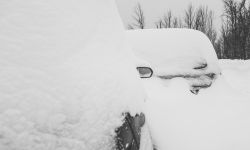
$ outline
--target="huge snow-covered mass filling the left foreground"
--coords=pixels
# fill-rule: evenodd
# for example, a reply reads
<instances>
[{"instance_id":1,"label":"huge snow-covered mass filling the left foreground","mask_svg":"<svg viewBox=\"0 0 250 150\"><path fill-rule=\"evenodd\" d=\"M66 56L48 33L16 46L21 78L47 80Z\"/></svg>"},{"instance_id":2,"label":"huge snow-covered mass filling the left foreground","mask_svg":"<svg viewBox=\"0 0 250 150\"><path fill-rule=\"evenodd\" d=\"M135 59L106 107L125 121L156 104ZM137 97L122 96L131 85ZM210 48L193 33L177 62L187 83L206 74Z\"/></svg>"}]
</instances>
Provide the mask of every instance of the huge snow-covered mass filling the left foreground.
<instances>
[{"instance_id":1,"label":"huge snow-covered mass filling the left foreground","mask_svg":"<svg viewBox=\"0 0 250 150\"><path fill-rule=\"evenodd\" d=\"M0 149L110 150L144 100L113 0L0 2Z\"/></svg>"}]
</instances>

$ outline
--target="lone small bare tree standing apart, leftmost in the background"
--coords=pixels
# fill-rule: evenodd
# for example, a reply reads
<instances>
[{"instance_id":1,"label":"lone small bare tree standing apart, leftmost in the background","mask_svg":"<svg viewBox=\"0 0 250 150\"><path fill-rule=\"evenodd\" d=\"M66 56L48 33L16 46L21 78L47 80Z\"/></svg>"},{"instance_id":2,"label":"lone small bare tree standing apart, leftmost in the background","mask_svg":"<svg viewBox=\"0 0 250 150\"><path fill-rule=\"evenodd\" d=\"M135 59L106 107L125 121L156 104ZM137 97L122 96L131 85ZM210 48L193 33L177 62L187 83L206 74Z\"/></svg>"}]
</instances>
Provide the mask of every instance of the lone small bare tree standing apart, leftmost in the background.
<instances>
[{"instance_id":1,"label":"lone small bare tree standing apart, leftmost in the background","mask_svg":"<svg viewBox=\"0 0 250 150\"><path fill-rule=\"evenodd\" d=\"M140 3L135 7L133 19L134 23L129 24L128 29L145 28L145 16Z\"/></svg>"}]
</instances>

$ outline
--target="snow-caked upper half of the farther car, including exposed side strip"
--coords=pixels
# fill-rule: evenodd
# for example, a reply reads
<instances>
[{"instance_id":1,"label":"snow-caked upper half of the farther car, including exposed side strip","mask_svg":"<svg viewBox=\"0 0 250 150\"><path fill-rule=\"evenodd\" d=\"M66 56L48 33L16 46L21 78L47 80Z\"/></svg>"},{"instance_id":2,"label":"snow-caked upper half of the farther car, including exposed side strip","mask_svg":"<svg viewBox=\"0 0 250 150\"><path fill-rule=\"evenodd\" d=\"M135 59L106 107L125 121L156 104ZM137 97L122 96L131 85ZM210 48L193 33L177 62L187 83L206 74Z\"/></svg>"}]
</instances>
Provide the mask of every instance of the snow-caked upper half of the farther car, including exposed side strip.
<instances>
[{"instance_id":1,"label":"snow-caked upper half of the farther car, including exposed side strip","mask_svg":"<svg viewBox=\"0 0 250 150\"><path fill-rule=\"evenodd\" d=\"M128 31L127 35L136 55L153 66L155 76L185 78L195 94L210 87L220 74L212 44L198 31L152 29Z\"/></svg>"}]
</instances>

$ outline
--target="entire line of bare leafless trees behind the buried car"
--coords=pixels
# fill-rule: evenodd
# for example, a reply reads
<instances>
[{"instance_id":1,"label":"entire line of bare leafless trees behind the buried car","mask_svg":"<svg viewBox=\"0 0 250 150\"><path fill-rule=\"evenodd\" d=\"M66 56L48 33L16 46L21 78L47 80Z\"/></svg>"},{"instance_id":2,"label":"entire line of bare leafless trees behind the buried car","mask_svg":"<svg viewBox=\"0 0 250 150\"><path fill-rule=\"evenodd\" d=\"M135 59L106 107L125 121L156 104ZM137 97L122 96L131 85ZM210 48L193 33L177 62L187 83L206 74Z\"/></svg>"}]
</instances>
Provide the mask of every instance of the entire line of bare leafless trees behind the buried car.
<instances>
[{"instance_id":1,"label":"entire line of bare leafless trees behind the buried car","mask_svg":"<svg viewBox=\"0 0 250 150\"><path fill-rule=\"evenodd\" d=\"M190 4L183 18L175 17L171 10L155 22L155 28L190 28L205 33L211 40L218 58L250 59L250 5L246 0L223 0L224 12L219 31L214 25L214 12L207 6L195 8ZM134 22L129 29L144 29L145 16L140 4L137 4L133 16Z\"/></svg>"}]
</instances>

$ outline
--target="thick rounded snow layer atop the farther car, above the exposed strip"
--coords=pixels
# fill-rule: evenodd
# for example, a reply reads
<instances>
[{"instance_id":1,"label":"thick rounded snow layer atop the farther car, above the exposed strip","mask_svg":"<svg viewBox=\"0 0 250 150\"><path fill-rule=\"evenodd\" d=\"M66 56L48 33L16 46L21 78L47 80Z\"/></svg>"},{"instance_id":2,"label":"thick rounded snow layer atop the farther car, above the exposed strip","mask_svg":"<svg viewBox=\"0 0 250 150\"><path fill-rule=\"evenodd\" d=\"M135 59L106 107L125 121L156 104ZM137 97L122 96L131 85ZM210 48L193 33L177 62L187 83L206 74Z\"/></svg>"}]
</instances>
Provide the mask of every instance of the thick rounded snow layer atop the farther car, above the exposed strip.
<instances>
[{"instance_id":1,"label":"thick rounded snow layer atop the farther car, above the exposed strip","mask_svg":"<svg viewBox=\"0 0 250 150\"><path fill-rule=\"evenodd\" d=\"M149 61L156 74L190 73L199 63L210 72L220 72L215 50L202 33L190 29L145 29L127 31L135 54Z\"/></svg>"}]
</instances>

